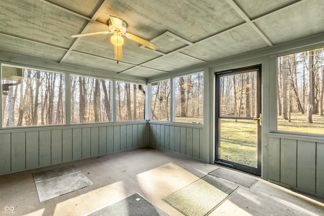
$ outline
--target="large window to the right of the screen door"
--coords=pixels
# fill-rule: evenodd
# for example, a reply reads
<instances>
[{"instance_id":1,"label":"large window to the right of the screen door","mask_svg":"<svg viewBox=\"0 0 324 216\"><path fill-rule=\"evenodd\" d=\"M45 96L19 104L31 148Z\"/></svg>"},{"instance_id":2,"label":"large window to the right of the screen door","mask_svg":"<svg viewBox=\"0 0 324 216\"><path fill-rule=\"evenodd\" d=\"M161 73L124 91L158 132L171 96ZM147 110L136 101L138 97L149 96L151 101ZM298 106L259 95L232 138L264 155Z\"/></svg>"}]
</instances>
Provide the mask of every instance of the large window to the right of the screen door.
<instances>
[{"instance_id":1,"label":"large window to the right of the screen door","mask_svg":"<svg viewBox=\"0 0 324 216\"><path fill-rule=\"evenodd\" d=\"M278 131L324 134L324 48L278 57Z\"/></svg>"}]
</instances>

